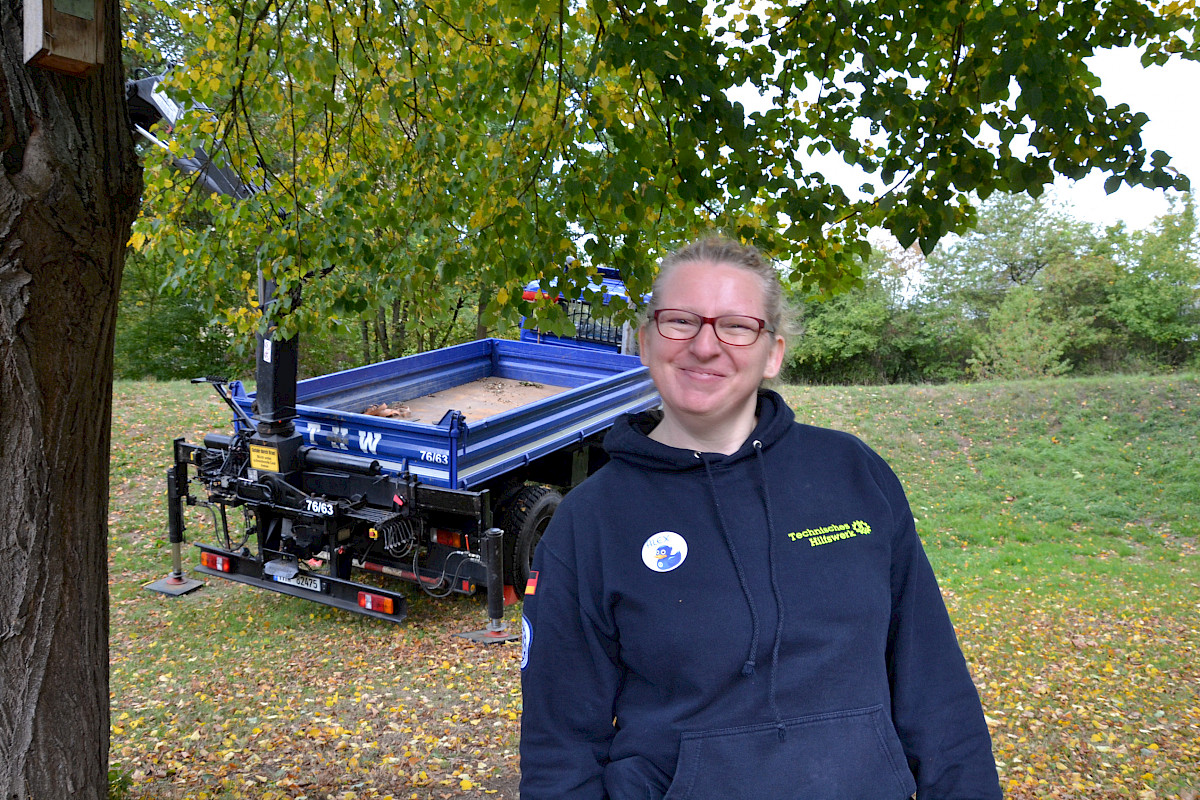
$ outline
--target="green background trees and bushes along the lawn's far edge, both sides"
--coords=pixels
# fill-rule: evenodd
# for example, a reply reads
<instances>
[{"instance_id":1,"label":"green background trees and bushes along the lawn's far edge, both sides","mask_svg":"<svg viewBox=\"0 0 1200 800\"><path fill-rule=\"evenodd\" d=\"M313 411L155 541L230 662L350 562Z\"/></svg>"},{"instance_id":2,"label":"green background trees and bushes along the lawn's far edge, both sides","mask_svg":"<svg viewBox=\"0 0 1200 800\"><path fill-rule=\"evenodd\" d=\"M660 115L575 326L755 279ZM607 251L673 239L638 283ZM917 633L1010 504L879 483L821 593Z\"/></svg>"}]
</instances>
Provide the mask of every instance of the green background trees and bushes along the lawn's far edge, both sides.
<instances>
[{"instance_id":1,"label":"green background trees and bushes along the lawn's far edge, both sides","mask_svg":"<svg viewBox=\"0 0 1200 800\"><path fill-rule=\"evenodd\" d=\"M210 302L220 306L222 293L215 289ZM197 290L172 283L152 253L131 253L118 319L120 375L168 379L251 369L248 337L214 323ZM406 297L397 287L389 294L348 324L307 333L306 372L488 332L479 321L478 289L434 285ZM830 295L797 291L792 305L803 333L794 338L785 378L799 383L942 383L1194 367L1200 363L1194 196L1177 196L1146 230L1099 230L1042 199L994 194L982 204L973 230L929 257L916 247L877 243L862 285Z\"/></svg>"}]
</instances>

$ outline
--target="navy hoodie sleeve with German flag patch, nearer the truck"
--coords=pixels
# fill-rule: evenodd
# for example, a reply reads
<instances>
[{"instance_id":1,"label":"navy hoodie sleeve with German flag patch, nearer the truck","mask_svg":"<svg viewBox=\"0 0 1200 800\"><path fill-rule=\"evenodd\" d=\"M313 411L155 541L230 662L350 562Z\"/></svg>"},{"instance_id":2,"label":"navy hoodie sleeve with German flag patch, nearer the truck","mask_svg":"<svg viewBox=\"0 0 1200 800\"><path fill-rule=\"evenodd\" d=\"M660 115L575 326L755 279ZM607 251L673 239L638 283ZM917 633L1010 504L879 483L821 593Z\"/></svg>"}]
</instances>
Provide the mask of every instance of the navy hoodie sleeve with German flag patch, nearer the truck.
<instances>
[{"instance_id":1,"label":"navy hoodie sleeve with German flag patch, nearer the truck","mask_svg":"<svg viewBox=\"0 0 1200 800\"><path fill-rule=\"evenodd\" d=\"M534 555L522 614L521 798L606 798L604 768L620 682L616 632L594 621L581 599L574 558L560 558L554 515ZM568 533L558 530L559 534ZM574 555L574 554L571 554ZM582 600L582 602L581 602Z\"/></svg>"}]
</instances>

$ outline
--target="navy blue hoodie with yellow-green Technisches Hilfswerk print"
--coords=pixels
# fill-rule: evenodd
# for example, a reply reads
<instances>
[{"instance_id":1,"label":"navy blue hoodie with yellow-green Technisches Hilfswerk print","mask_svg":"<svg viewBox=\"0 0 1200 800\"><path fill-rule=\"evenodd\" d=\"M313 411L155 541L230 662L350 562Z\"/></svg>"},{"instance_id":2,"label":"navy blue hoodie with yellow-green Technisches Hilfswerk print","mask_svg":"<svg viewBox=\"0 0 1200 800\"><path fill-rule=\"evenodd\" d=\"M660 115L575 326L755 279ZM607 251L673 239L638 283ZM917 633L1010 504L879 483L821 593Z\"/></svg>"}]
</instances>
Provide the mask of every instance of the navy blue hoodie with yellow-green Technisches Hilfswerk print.
<instances>
[{"instance_id":1,"label":"navy blue hoodie with yellow-green Technisches Hilfswerk print","mask_svg":"<svg viewBox=\"0 0 1200 800\"><path fill-rule=\"evenodd\" d=\"M732 456L618 422L524 599L522 800L1001 796L904 489L774 392Z\"/></svg>"}]
</instances>

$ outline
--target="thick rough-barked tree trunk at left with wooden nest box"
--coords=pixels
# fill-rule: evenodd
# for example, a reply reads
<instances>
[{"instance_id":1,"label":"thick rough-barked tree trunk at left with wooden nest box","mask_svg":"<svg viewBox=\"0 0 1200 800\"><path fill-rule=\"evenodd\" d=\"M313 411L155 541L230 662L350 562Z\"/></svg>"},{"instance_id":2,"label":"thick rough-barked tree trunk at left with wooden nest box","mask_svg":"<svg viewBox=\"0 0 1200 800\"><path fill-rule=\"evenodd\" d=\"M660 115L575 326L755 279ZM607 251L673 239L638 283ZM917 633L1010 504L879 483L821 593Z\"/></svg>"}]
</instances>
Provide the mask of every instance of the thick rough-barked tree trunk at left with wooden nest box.
<instances>
[{"instance_id":1,"label":"thick rough-barked tree trunk at left with wooden nest box","mask_svg":"<svg viewBox=\"0 0 1200 800\"><path fill-rule=\"evenodd\" d=\"M142 192L119 7L103 67L22 60L0 36L0 798L107 795L113 332Z\"/></svg>"}]
</instances>

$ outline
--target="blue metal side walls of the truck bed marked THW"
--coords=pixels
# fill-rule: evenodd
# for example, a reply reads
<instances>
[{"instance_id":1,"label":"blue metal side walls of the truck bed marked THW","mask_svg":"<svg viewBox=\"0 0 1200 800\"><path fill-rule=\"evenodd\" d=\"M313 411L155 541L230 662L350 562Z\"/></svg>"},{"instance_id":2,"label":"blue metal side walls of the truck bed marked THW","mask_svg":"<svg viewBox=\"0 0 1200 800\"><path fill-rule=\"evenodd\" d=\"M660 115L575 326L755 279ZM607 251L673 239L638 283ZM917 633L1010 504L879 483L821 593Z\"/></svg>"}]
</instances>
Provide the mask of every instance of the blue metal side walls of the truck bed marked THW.
<instances>
[{"instance_id":1,"label":"blue metal side walls of the truck bed marked THW","mask_svg":"<svg viewBox=\"0 0 1200 800\"><path fill-rule=\"evenodd\" d=\"M566 391L470 423L452 409L436 423L361 413L481 378ZM247 411L252 398L235 386L234 399ZM388 471L409 471L434 486L470 489L658 402L636 356L482 339L301 380L295 423L308 445L376 458Z\"/></svg>"}]
</instances>

